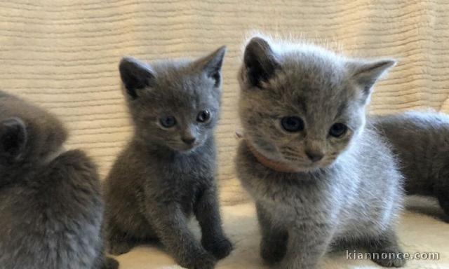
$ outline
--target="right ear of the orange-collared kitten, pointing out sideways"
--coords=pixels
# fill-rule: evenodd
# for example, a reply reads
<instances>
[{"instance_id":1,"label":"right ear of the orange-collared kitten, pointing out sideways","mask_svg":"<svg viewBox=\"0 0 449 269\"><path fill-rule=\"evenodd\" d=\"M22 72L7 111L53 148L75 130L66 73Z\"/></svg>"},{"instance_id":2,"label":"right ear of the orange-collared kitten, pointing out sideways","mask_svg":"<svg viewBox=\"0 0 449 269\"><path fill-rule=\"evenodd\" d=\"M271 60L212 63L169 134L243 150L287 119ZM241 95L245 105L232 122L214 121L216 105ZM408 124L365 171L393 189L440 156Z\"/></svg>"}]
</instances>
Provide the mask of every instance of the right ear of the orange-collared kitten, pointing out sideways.
<instances>
[{"instance_id":1,"label":"right ear of the orange-collared kitten, pointing out sideways","mask_svg":"<svg viewBox=\"0 0 449 269\"><path fill-rule=\"evenodd\" d=\"M347 66L351 78L361 87L363 95L368 97L376 81L395 64L395 60L385 59L376 62L349 62Z\"/></svg>"}]
</instances>

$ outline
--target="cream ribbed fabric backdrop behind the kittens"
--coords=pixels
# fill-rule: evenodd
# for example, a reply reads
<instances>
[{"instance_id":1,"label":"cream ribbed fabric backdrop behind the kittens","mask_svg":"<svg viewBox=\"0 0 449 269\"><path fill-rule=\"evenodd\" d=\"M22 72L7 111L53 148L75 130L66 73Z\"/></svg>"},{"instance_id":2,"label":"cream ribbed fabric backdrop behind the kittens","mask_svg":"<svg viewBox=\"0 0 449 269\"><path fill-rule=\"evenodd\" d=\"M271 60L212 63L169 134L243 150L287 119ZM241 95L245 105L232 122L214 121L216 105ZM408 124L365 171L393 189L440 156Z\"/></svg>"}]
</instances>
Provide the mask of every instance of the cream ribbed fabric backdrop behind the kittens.
<instances>
[{"instance_id":1,"label":"cream ribbed fabric backdrop behind the kittens","mask_svg":"<svg viewBox=\"0 0 449 269\"><path fill-rule=\"evenodd\" d=\"M448 11L444 0L0 1L0 88L60 116L71 133L67 147L86 149L105 176L130 135L117 71L120 58L196 57L227 45L217 141L223 203L234 205L245 197L234 177L233 158L236 71L248 32L326 40L353 56L395 57L398 65L377 85L371 111L427 106L449 111ZM227 219L243 210L251 216L248 223L255 224L246 207L227 207ZM448 227L437 224L447 238ZM255 225L248 227L255 233ZM252 240L254 253L257 242ZM229 268L246 263L239 264Z\"/></svg>"}]
</instances>

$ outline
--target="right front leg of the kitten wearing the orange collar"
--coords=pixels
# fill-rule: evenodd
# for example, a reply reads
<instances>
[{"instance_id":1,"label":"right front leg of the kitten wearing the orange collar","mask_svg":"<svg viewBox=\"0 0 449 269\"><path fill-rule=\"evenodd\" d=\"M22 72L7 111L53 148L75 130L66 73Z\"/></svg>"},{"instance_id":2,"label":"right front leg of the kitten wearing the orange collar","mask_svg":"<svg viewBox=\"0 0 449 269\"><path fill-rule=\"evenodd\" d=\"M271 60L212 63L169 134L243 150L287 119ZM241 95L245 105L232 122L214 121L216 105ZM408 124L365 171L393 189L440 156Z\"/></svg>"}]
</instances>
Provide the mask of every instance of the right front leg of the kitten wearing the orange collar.
<instances>
[{"instance_id":1,"label":"right front leg of the kitten wearing the orange collar","mask_svg":"<svg viewBox=\"0 0 449 269\"><path fill-rule=\"evenodd\" d=\"M330 223L297 223L289 230L287 254L277 268L317 268L332 235Z\"/></svg>"}]
</instances>

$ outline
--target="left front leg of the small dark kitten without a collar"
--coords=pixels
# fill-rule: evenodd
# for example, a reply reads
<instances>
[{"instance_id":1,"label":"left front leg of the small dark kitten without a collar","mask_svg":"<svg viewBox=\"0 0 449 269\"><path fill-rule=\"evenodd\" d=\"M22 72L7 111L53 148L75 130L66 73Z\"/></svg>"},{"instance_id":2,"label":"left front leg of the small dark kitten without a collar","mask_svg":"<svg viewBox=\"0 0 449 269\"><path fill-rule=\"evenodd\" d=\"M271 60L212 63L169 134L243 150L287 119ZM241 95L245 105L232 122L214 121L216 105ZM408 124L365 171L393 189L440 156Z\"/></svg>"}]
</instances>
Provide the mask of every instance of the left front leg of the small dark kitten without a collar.
<instances>
[{"instance_id":1,"label":"left front leg of the small dark kitten without a collar","mask_svg":"<svg viewBox=\"0 0 449 269\"><path fill-rule=\"evenodd\" d=\"M215 257L209 254L187 227L187 219L175 202L147 201L147 218L167 251L182 267L213 269Z\"/></svg>"}]
</instances>

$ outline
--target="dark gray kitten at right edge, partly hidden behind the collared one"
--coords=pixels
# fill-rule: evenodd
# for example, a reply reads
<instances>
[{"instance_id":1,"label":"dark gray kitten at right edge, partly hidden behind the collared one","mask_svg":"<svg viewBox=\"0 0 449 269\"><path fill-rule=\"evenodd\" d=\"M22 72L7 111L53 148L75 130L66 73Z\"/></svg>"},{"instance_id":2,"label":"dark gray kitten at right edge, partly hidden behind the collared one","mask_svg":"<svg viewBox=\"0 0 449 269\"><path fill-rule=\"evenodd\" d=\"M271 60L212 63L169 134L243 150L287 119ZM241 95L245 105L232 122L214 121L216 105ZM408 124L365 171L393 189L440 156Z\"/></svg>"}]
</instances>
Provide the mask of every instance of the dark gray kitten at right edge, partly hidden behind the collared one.
<instances>
[{"instance_id":1,"label":"dark gray kitten at right edge, partly hidden behind the collared one","mask_svg":"<svg viewBox=\"0 0 449 269\"><path fill-rule=\"evenodd\" d=\"M401 160L406 193L436 197L449 222L449 116L414 111L375 121Z\"/></svg>"}]
</instances>

